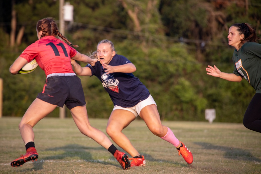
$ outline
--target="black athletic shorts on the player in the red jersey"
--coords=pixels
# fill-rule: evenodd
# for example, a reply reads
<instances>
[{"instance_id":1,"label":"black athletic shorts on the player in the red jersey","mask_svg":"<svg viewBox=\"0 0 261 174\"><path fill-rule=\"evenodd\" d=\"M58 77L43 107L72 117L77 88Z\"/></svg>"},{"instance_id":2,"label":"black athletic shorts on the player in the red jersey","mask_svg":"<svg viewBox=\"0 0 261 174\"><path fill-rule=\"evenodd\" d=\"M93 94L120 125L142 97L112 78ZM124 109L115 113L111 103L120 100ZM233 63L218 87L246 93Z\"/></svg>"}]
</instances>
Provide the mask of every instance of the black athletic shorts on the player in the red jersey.
<instances>
[{"instance_id":1,"label":"black athletic shorts on the player in the red jersey","mask_svg":"<svg viewBox=\"0 0 261 174\"><path fill-rule=\"evenodd\" d=\"M81 79L73 76L51 76L46 79L43 91L37 98L68 109L86 104Z\"/></svg>"}]
</instances>

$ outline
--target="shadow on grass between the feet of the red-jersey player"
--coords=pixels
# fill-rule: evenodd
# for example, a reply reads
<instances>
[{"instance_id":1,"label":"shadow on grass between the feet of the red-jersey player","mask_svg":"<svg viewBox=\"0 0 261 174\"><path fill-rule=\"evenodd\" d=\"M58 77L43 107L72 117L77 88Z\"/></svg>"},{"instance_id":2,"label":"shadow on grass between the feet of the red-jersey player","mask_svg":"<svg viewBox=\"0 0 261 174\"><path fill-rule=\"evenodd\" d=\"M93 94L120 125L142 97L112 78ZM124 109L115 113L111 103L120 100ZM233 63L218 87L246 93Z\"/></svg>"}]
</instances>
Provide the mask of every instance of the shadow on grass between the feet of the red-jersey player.
<instances>
[{"instance_id":1,"label":"shadow on grass between the feet of the red-jersey player","mask_svg":"<svg viewBox=\"0 0 261 174\"><path fill-rule=\"evenodd\" d=\"M52 155L52 156L48 156L48 157L41 157L41 154L39 154L39 158L36 162L33 162L34 167L32 168L33 170L37 171L37 170L41 170L43 169L43 164L45 161L50 161L50 160L61 160L64 158L68 158L68 157L79 157L81 160L86 161L86 162L92 162L92 163L100 163L100 164L104 164L104 165L113 165L116 167L120 167L120 164L113 164L113 163L109 163L109 162L105 162L105 161L99 161L99 160L94 160L92 158L91 153L88 152L88 150L105 150L102 146L101 147L86 147L86 146L81 146L81 145L77 145L77 144L71 144L71 145L66 145L63 147L55 147L55 148L49 148L49 149L45 149L45 151L64 151L63 154L57 154L57 155ZM110 153L109 151L104 151L104 153ZM112 155L111 155L111 159L116 160ZM61 161L57 161L57 162L61 162ZM64 161L64 163L67 163L70 161Z\"/></svg>"}]
</instances>

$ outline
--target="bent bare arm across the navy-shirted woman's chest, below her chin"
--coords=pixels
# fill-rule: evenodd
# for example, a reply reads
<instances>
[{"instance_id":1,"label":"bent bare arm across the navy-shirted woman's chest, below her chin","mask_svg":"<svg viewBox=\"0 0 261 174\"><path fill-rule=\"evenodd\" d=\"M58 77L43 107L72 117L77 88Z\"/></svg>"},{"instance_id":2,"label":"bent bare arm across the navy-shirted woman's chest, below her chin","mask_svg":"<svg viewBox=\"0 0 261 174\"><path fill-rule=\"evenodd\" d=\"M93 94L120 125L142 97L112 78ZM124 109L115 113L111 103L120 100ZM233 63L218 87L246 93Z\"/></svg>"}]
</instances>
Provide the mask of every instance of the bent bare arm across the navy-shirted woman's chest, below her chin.
<instances>
[{"instance_id":1,"label":"bent bare arm across the navy-shirted woman's chest, below her chin","mask_svg":"<svg viewBox=\"0 0 261 174\"><path fill-rule=\"evenodd\" d=\"M103 66L104 69L106 69L106 70L104 70L105 72L107 72L106 74L110 74L110 73L133 73L134 71L136 71L136 67L132 63L127 63L127 64L124 64L124 65L117 65L117 66L111 66L111 65L107 65L107 64L103 63L102 66Z\"/></svg>"}]
</instances>

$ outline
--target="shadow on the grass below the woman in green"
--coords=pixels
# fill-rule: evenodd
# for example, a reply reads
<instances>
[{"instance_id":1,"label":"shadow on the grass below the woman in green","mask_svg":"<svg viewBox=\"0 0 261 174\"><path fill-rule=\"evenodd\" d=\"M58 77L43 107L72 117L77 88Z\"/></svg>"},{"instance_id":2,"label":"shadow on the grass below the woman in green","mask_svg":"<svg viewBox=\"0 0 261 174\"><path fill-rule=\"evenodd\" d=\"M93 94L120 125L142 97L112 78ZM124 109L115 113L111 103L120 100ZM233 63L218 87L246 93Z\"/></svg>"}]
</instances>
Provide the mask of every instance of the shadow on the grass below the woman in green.
<instances>
[{"instance_id":1,"label":"shadow on the grass below the woman in green","mask_svg":"<svg viewBox=\"0 0 261 174\"><path fill-rule=\"evenodd\" d=\"M194 142L194 144L202 146L204 149L207 150L213 149L213 150L219 150L221 152L224 152L224 157L228 159L255 161L258 163L261 162L261 159L253 157L254 155L252 155L250 152L240 148L234 148L229 146L216 146L206 142Z\"/></svg>"}]
</instances>

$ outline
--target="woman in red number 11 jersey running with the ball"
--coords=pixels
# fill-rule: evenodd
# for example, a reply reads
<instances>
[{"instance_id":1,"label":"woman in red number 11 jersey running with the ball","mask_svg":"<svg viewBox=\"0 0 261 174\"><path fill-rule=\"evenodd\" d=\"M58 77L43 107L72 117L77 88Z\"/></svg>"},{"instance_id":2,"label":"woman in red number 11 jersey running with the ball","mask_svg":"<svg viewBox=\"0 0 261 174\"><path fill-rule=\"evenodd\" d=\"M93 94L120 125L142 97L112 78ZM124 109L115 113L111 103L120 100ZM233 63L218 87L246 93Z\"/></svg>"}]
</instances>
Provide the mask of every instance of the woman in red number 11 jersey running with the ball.
<instances>
[{"instance_id":1,"label":"woman in red number 11 jersey running with the ball","mask_svg":"<svg viewBox=\"0 0 261 174\"><path fill-rule=\"evenodd\" d=\"M94 65L97 59L91 59L72 48L77 45L72 45L58 31L53 18L39 20L36 31L38 40L29 45L9 69L11 74L16 75L25 64L35 58L46 74L43 91L37 95L19 124L26 154L12 161L11 166L18 167L27 161L37 160L38 153L34 146L33 127L57 106L63 107L65 104L81 133L106 148L114 155L123 169L128 169L130 167L128 156L124 152L118 151L102 131L90 125L81 80L75 75L70 62L70 59L74 59ZM56 38L57 35L67 44Z\"/></svg>"}]
</instances>

